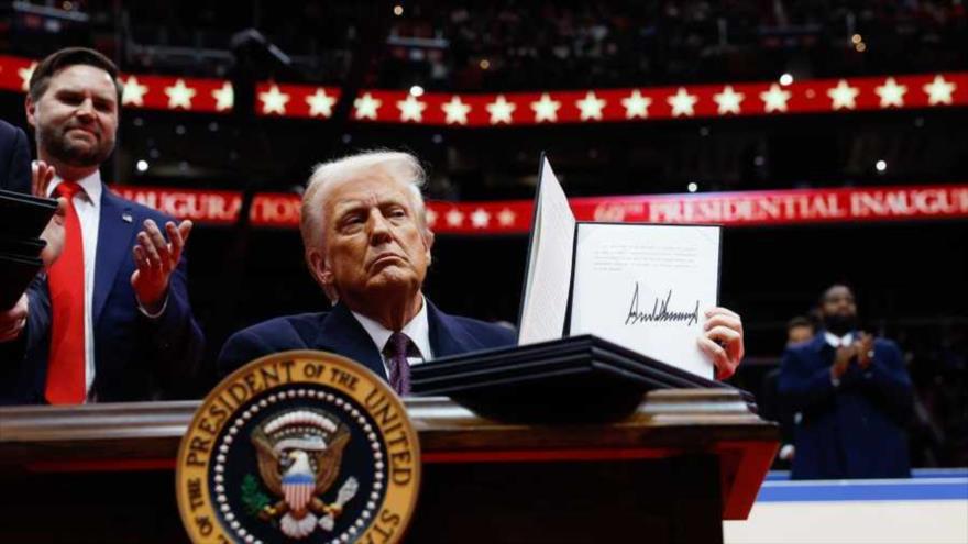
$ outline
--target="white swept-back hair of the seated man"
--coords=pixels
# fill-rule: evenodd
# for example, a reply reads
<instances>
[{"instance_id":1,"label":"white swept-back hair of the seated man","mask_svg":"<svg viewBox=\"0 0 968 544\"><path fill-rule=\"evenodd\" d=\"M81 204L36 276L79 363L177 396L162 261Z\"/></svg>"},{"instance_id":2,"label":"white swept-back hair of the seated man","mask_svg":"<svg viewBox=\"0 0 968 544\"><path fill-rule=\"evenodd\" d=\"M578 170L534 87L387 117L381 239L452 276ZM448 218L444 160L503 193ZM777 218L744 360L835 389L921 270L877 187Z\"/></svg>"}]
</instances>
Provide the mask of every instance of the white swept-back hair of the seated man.
<instances>
[{"instance_id":1,"label":"white swept-back hair of the seated man","mask_svg":"<svg viewBox=\"0 0 968 544\"><path fill-rule=\"evenodd\" d=\"M427 209L424 203L424 195L420 192L427 181L427 174L420 166L420 160L414 155L406 152L377 149L320 163L312 169L312 175L309 176L309 181L306 185L306 191L302 193L299 220L306 264L310 270L312 270L310 254L314 251L323 254L326 252L323 206L319 201L324 192L322 189L333 184L364 177L372 170L382 170L389 174L391 178L407 184L419 225L421 230L427 230ZM323 289L330 300L334 300L330 289L327 286L323 286Z\"/></svg>"}]
</instances>

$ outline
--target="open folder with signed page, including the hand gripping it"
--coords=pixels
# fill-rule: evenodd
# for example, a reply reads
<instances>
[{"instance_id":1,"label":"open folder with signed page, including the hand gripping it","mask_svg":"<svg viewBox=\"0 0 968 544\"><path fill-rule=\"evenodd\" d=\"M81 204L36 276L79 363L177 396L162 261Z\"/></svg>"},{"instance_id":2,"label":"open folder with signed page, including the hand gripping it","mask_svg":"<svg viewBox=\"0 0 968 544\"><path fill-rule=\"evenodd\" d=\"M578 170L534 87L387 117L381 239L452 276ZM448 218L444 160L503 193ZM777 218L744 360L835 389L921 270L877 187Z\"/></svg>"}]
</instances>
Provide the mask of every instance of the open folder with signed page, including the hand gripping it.
<instances>
[{"instance_id":1,"label":"open folder with signed page, including the hand gripping it","mask_svg":"<svg viewBox=\"0 0 968 544\"><path fill-rule=\"evenodd\" d=\"M535 207L519 344L594 334L704 378L735 371L719 226L575 222L546 158Z\"/></svg>"}]
</instances>

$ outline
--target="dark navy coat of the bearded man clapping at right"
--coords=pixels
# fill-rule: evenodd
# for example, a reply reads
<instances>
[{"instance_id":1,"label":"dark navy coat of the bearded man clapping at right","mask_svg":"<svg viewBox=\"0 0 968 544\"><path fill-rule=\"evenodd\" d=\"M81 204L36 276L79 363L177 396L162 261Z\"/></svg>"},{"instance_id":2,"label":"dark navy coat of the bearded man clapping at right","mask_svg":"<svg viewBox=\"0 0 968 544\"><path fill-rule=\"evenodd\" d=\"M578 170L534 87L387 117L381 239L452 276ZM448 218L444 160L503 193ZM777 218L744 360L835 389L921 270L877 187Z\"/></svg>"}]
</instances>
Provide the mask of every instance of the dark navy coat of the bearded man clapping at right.
<instances>
[{"instance_id":1,"label":"dark navy coat of the bearded man clapping at right","mask_svg":"<svg viewBox=\"0 0 968 544\"><path fill-rule=\"evenodd\" d=\"M791 346L780 367L780 396L799 412L793 478L911 476L904 424L912 411L911 378L898 345L875 340L867 370L856 362L835 387L834 348L821 331Z\"/></svg>"}]
</instances>

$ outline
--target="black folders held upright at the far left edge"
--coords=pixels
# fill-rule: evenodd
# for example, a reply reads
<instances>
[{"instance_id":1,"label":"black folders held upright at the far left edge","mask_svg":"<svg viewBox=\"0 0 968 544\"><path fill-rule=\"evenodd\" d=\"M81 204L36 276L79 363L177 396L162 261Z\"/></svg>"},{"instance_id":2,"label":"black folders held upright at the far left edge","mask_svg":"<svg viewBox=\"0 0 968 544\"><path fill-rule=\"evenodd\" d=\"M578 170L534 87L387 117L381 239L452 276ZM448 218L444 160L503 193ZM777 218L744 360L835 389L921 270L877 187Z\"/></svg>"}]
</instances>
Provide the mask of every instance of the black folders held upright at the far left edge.
<instances>
[{"instance_id":1,"label":"black folders held upright at the far left edge","mask_svg":"<svg viewBox=\"0 0 968 544\"><path fill-rule=\"evenodd\" d=\"M0 310L13 307L41 269L40 236L56 210L54 199L0 190Z\"/></svg>"}]
</instances>

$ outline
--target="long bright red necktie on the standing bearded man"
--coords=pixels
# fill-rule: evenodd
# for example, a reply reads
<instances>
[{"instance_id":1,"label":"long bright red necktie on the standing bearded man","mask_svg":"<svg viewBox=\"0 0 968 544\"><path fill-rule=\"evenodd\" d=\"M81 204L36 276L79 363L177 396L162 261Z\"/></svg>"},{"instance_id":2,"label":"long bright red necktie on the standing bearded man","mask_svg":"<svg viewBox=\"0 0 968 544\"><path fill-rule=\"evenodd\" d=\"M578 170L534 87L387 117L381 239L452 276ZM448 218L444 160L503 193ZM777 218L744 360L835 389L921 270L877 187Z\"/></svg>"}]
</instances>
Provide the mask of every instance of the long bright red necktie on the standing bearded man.
<instances>
[{"instance_id":1,"label":"long bright red necktie on the standing bearded man","mask_svg":"<svg viewBox=\"0 0 968 544\"><path fill-rule=\"evenodd\" d=\"M55 192L67 199L64 223L64 252L51 265L47 285L51 289L53 323L51 357L47 363L47 402L80 404L87 390L84 346L84 238L80 220L74 208L74 196L81 188L74 181L62 181Z\"/></svg>"}]
</instances>

